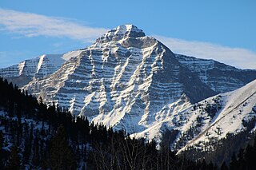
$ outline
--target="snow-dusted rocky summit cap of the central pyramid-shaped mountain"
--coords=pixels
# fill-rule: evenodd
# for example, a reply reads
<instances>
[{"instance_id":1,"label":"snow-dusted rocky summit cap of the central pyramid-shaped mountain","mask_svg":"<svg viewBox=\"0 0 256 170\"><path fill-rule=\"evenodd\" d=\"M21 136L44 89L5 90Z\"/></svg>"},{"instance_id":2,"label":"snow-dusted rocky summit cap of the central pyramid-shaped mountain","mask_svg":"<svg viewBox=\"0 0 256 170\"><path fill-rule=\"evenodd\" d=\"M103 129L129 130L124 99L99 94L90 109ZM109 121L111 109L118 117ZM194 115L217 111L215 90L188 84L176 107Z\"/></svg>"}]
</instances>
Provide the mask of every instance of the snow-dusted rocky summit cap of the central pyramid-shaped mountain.
<instances>
[{"instance_id":1,"label":"snow-dusted rocky summit cap of the central pyramid-shaped mountain","mask_svg":"<svg viewBox=\"0 0 256 170\"><path fill-rule=\"evenodd\" d=\"M124 38L140 38L144 36L145 33L143 32L143 30L138 29L137 26L121 25L102 35L102 37L98 38L96 42L118 42L119 40L122 40Z\"/></svg>"}]
</instances>

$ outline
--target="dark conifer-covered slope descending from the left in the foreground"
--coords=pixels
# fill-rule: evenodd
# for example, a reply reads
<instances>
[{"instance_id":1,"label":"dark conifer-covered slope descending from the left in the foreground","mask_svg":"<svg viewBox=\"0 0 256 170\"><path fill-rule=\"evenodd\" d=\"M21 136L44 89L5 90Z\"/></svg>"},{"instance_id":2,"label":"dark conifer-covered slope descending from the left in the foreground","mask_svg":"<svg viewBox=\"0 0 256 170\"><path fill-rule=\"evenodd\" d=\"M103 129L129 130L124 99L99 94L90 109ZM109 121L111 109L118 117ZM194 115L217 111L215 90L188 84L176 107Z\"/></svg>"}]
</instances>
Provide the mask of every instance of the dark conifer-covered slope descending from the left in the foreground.
<instances>
[{"instance_id":1,"label":"dark conifer-covered slope descending from the left in the foreground","mask_svg":"<svg viewBox=\"0 0 256 170\"><path fill-rule=\"evenodd\" d=\"M231 165L247 164L246 156ZM249 164L246 167L250 169ZM123 130L74 118L54 103L47 107L42 99L38 102L0 78L0 169L25 168L216 169L206 161L176 156L168 144L157 150L154 141L130 138Z\"/></svg>"}]
</instances>

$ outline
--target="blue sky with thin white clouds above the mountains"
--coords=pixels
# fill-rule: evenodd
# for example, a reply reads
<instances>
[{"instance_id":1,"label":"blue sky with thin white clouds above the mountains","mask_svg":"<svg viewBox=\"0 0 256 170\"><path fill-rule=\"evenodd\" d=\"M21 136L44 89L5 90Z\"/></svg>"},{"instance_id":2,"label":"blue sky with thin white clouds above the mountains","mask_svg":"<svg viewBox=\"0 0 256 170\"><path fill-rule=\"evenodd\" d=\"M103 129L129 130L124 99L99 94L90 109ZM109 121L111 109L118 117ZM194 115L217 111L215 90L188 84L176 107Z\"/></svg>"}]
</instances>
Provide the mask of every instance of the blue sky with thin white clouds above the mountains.
<instances>
[{"instance_id":1,"label":"blue sky with thin white clouds above the mountains","mask_svg":"<svg viewBox=\"0 0 256 170\"><path fill-rule=\"evenodd\" d=\"M174 53L256 69L256 1L1 0L0 68L134 24Z\"/></svg>"}]
</instances>

